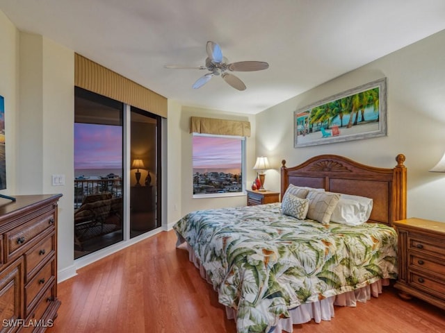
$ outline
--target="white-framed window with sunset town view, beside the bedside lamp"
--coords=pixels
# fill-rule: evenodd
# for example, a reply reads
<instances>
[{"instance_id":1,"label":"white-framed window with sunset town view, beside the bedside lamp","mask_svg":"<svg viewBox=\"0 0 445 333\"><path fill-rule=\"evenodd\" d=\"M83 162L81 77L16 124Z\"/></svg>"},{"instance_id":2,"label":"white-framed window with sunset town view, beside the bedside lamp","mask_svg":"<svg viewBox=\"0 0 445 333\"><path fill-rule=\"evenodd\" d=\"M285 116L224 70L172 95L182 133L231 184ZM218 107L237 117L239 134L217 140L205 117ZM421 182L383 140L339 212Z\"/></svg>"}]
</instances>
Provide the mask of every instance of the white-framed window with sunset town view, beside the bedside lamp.
<instances>
[{"instance_id":1,"label":"white-framed window with sunset town view, beside the bedside lamp","mask_svg":"<svg viewBox=\"0 0 445 333\"><path fill-rule=\"evenodd\" d=\"M193 134L193 195L244 191L245 137Z\"/></svg>"}]
</instances>

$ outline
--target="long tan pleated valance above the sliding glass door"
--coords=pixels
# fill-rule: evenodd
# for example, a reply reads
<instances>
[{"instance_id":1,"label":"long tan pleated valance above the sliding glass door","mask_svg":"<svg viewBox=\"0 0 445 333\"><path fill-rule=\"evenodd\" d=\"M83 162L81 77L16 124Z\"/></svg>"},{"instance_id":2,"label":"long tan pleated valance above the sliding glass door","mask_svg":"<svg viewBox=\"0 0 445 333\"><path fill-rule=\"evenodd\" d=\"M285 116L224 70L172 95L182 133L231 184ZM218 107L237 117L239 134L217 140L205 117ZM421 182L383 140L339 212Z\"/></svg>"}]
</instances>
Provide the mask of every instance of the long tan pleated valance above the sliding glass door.
<instances>
[{"instance_id":1,"label":"long tan pleated valance above the sliding glass door","mask_svg":"<svg viewBox=\"0 0 445 333\"><path fill-rule=\"evenodd\" d=\"M122 103L167 117L167 99L77 53L74 85Z\"/></svg>"}]
</instances>

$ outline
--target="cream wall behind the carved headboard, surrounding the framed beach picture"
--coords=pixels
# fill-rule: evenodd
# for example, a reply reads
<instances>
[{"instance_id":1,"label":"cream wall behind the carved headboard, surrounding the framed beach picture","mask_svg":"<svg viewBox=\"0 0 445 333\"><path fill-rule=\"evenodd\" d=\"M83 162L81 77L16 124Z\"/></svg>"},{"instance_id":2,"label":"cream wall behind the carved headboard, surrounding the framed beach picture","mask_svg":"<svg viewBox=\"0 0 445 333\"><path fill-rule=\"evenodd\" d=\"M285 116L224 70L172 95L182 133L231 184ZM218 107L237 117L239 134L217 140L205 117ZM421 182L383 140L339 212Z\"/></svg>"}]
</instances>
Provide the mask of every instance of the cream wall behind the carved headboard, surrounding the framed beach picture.
<instances>
[{"instance_id":1,"label":"cream wall behind the carved headboard, surrounding the framed beach picture","mask_svg":"<svg viewBox=\"0 0 445 333\"><path fill-rule=\"evenodd\" d=\"M406 156L407 216L445 221L445 173L430 173L445 152L445 31L257 114L257 153L275 170L269 187L280 190L280 161L300 164L332 153L376 167L395 167ZM328 96L387 77L388 135L354 142L293 148L293 112ZM298 79L298 76L296 77Z\"/></svg>"}]
</instances>

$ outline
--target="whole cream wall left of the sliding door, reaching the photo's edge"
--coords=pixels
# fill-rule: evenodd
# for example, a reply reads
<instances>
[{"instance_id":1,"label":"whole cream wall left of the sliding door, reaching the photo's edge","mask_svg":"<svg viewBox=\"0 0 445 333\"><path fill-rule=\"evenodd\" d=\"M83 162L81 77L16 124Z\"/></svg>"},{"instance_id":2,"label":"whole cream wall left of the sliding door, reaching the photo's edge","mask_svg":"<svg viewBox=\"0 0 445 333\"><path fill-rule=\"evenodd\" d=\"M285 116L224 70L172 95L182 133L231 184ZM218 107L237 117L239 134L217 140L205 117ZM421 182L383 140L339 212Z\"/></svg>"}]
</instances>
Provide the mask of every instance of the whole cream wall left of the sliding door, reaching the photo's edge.
<instances>
[{"instance_id":1,"label":"whole cream wall left of the sliding door, reaching the photo's edge","mask_svg":"<svg viewBox=\"0 0 445 333\"><path fill-rule=\"evenodd\" d=\"M19 33L0 11L0 94L5 98L6 176L3 194L56 194L58 270L74 271L74 51L46 37ZM53 187L52 174L66 185Z\"/></svg>"}]
</instances>

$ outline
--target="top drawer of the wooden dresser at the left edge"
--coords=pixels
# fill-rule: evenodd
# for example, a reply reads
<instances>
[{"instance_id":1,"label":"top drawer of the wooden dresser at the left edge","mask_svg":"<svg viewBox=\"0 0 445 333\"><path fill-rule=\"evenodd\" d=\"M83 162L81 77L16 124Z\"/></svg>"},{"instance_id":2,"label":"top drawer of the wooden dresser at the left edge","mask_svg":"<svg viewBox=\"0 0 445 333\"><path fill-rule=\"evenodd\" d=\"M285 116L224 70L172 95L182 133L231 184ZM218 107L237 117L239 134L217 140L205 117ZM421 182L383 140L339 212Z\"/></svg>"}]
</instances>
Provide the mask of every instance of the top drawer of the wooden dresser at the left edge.
<instances>
[{"instance_id":1,"label":"top drawer of the wooden dresser at the left edge","mask_svg":"<svg viewBox=\"0 0 445 333\"><path fill-rule=\"evenodd\" d=\"M6 232L6 249L8 260L19 255L26 245L30 244L35 237L49 228L54 229L54 214L38 216L32 221L24 223L19 228Z\"/></svg>"}]
</instances>

